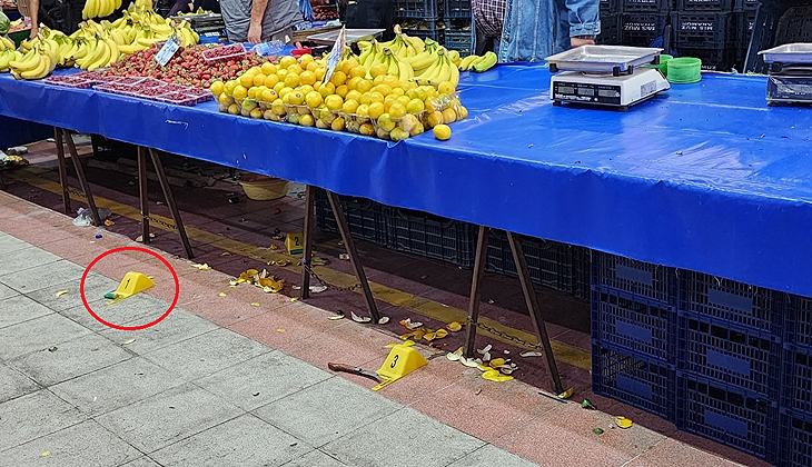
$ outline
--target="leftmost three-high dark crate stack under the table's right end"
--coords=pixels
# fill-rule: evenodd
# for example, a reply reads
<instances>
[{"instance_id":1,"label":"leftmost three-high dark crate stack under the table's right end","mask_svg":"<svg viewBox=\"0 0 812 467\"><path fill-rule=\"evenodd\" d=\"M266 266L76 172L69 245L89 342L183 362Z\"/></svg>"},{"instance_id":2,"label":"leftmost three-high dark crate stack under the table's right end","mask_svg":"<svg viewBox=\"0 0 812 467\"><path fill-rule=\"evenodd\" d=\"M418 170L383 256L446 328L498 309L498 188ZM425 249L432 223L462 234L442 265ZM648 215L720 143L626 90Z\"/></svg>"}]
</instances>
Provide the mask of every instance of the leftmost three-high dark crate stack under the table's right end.
<instances>
[{"instance_id":1,"label":"leftmost three-high dark crate stack under the table's right end","mask_svg":"<svg viewBox=\"0 0 812 467\"><path fill-rule=\"evenodd\" d=\"M674 419L676 300L673 268L592 252L595 394Z\"/></svg>"}]
</instances>

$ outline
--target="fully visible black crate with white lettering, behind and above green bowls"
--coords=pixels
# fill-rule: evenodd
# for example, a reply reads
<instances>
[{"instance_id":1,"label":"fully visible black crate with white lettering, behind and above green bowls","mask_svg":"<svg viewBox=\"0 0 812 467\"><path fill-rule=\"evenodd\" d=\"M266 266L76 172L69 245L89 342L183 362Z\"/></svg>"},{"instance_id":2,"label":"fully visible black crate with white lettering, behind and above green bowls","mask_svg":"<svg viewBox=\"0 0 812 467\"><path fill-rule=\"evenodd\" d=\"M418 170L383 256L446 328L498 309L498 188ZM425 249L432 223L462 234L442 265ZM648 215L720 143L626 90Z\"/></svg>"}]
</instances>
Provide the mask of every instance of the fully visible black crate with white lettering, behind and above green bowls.
<instances>
[{"instance_id":1,"label":"fully visible black crate with white lettering, behind and above green bowls","mask_svg":"<svg viewBox=\"0 0 812 467\"><path fill-rule=\"evenodd\" d=\"M671 19L677 48L720 49L736 42L733 13L679 12Z\"/></svg>"}]
</instances>

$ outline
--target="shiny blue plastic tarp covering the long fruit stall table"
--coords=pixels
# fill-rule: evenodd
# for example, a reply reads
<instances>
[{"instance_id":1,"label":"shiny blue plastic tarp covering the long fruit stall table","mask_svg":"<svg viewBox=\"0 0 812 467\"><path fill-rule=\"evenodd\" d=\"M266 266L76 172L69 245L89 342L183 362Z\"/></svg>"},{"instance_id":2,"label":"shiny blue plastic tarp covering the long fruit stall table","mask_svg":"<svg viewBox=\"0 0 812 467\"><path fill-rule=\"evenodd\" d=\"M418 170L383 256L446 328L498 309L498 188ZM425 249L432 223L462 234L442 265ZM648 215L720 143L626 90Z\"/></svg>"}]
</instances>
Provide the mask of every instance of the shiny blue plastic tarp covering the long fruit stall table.
<instances>
[{"instance_id":1,"label":"shiny blue plastic tarp covering the long fruit stall table","mask_svg":"<svg viewBox=\"0 0 812 467\"><path fill-rule=\"evenodd\" d=\"M544 66L464 73L448 141L398 143L0 76L0 115L812 296L812 109L705 76L628 112L554 107ZM2 129L0 129L2 131Z\"/></svg>"}]
</instances>

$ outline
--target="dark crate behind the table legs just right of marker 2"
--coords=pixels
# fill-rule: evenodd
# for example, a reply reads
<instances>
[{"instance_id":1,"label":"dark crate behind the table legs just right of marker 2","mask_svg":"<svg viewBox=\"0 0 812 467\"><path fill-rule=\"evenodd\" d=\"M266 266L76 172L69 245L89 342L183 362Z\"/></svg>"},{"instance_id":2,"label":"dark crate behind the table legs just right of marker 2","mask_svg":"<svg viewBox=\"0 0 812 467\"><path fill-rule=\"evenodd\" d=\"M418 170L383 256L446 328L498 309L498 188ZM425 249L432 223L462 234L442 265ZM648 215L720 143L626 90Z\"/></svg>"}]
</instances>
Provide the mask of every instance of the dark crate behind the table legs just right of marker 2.
<instances>
[{"instance_id":1,"label":"dark crate behind the table legs just right of marker 2","mask_svg":"<svg viewBox=\"0 0 812 467\"><path fill-rule=\"evenodd\" d=\"M333 208L323 189L315 190L316 227L326 232L338 232ZM365 198L339 197L344 217L353 238L386 246L389 242L386 208Z\"/></svg>"}]
</instances>

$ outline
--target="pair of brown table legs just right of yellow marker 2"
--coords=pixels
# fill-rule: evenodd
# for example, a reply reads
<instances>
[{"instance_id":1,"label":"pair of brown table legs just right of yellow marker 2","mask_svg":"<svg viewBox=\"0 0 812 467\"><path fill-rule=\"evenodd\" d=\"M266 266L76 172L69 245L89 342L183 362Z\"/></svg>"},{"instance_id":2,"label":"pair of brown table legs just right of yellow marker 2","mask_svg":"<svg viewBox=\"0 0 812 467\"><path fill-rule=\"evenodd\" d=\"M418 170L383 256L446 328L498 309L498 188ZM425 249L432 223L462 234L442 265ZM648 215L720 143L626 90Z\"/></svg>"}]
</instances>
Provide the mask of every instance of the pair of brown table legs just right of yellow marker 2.
<instances>
[{"instance_id":1,"label":"pair of brown table legs just right of yellow marker 2","mask_svg":"<svg viewBox=\"0 0 812 467\"><path fill-rule=\"evenodd\" d=\"M305 190L305 245L304 256L301 258L301 291L299 294L303 300L307 299L310 295L309 265L311 264L310 261L313 259L314 198L315 188L308 186ZM358 250L355 248L353 237L349 235L349 227L347 227L347 219L344 217L341 202L338 199L338 195L334 193L333 191L327 191L327 199L330 201L333 215L336 218L336 223L338 223L338 231L341 234L341 240L344 240L344 247L346 248L347 255L349 256L349 262L355 270L355 277L358 279L360 288L364 292L364 298L366 299L369 315L372 315L372 318L375 322L378 322L380 320L380 314L378 312L378 307L375 305L375 298L373 297L373 291L369 288L369 282L367 281L366 274L364 272L364 267L362 266L360 258L358 257Z\"/></svg>"}]
</instances>

